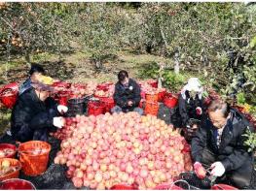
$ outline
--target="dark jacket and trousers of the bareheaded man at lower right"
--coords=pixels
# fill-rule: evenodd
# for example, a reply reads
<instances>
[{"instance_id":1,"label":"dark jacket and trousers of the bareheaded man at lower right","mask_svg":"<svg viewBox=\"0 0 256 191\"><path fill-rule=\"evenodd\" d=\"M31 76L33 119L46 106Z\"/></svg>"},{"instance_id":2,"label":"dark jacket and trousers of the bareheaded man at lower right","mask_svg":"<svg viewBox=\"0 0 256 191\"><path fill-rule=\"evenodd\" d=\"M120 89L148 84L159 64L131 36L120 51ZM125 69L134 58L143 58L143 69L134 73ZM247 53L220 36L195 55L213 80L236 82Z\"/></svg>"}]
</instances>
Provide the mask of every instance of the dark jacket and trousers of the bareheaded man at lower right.
<instances>
[{"instance_id":1,"label":"dark jacket and trousers of the bareheaded man at lower right","mask_svg":"<svg viewBox=\"0 0 256 191\"><path fill-rule=\"evenodd\" d=\"M201 121L201 128L192 139L192 157L194 161L211 165L220 161L225 167L226 174L232 183L238 188L246 188L250 185L253 172L254 158L248 152L248 146L244 144L246 130L254 132L254 128L237 110L231 110L231 117L223 129L221 143L217 146L217 129L211 121L205 118ZM204 150L209 150L211 156L204 155ZM210 162L209 158L214 158Z\"/></svg>"}]
</instances>

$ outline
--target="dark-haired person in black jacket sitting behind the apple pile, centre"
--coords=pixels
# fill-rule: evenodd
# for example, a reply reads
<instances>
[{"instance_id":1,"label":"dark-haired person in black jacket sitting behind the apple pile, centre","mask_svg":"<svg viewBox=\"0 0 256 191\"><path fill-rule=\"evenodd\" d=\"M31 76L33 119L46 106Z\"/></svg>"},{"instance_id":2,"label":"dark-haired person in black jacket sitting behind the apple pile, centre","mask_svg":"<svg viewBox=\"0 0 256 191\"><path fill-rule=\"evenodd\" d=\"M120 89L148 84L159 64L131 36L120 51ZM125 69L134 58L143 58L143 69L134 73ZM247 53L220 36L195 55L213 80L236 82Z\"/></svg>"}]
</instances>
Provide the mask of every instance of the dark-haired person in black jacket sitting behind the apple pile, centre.
<instances>
[{"instance_id":1,"label":"dark-haired person in black jacket sitting behind the apple pile, centre","mask_svg":"<svg viewBox=\"0 0 256 191\"><path fill-rule=\"evenodd\" d=\"M115 85L114 100L116 106L112 112L137 111L143 114L143 110L138 108L140 102L140 87L135 80L128 78L127 71L120 71L118 82Z\"/></svg>"}]
</instances>

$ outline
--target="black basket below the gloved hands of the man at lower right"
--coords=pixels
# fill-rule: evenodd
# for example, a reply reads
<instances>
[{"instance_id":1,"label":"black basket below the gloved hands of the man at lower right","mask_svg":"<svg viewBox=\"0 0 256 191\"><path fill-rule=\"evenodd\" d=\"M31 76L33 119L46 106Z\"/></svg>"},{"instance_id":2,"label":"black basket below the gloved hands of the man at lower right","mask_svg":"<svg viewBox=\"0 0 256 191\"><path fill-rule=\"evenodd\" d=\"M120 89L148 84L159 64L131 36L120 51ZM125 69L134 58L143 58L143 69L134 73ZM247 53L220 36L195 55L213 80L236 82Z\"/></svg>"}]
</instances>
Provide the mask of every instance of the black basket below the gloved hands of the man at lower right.
<instances>
[{"instance_id":1,"label":"black basket below the gloved hands of the man at lower right","mask_svg":"<svg viewBox=\"0 0 256 191\"><path fill-rule=\"evenodd\" d=\"M187 181L190 189L210 189L211 181L208 177L199 178L194 172L181 173L180 179Z\"/></svg>"}]
</instances>

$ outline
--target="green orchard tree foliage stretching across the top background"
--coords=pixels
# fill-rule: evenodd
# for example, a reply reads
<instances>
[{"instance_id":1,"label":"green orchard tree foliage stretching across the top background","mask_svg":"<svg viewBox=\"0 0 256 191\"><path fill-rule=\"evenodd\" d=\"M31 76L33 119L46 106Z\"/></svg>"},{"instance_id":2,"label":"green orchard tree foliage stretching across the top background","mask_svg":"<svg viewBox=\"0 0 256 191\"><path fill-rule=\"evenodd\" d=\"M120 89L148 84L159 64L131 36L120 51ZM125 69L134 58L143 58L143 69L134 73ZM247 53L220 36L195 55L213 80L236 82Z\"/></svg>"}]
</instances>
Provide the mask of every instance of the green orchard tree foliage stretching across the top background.
<instances>
[{"instance_id":1,"label":"green orchard tree foliage stretching across the top background","mask_svg":"<svg viewBox=\"0 0 256 191\"><path fill-rule=\"evenodd\" d=\"M108 55L131 49L173 63L176 56L181 69L204 74L224 93L240 77L242 91L255 92L255 13L255 4L243 3L2 3L1 55L75 49L101 68Z\"/></svg>"}]
</instances>

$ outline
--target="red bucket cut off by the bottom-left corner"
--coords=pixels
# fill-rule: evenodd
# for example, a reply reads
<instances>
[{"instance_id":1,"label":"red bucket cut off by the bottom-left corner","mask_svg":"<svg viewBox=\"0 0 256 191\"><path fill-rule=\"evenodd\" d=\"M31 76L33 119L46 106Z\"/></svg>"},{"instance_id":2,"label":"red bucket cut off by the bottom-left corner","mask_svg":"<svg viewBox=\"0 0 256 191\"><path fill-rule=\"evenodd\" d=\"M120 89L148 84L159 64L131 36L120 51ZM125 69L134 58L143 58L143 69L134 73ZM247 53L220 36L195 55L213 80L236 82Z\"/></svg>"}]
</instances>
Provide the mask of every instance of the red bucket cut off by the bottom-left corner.
<instances>
[{"instance_id":1,"label":"red bucket cut off by the bottom-left corner","mask_svg":"<svg viewBox=\"0 0 256 191\"><path fill-rule=\"evenodd\" d=\"M12 178L0 183L0 190L35 190L35 186L25 179Z\"/></svg>"}]
</instances>

